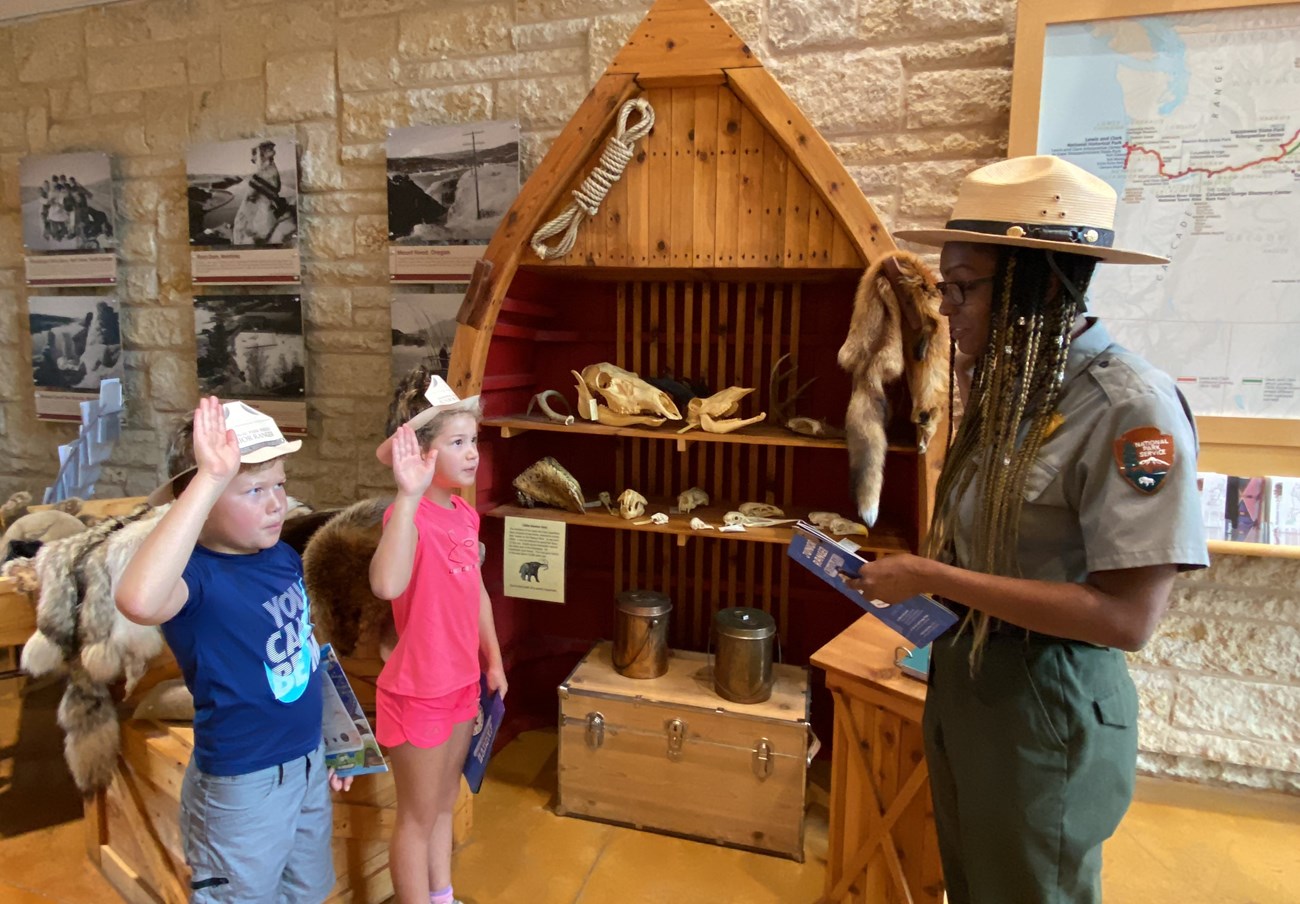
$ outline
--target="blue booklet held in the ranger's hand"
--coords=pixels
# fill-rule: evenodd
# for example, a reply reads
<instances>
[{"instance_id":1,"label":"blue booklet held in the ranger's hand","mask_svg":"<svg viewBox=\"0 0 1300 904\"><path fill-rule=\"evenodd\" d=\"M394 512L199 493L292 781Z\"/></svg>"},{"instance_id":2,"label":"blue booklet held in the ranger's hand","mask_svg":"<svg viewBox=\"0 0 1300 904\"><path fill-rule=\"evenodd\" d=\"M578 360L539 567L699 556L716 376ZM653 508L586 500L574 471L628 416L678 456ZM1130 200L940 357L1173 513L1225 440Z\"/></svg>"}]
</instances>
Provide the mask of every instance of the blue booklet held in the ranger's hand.
<instances>
[{"instance_id":1,"label":"blue booklet held in the ranger's hand","mask_svg":"<svg viewBox=\"0 0 1300 904\"><path fill-rule=\"evenodd\" d=\"M859 574L867 561L832 540L812 524L800 522L786 550L789 557L866 609L909 643L924 646L957 623L957 614L933 597L919 593L902 602L889 605L868 600L859 591L844 583L844 572Z\"/></svg>"}]
</instances>

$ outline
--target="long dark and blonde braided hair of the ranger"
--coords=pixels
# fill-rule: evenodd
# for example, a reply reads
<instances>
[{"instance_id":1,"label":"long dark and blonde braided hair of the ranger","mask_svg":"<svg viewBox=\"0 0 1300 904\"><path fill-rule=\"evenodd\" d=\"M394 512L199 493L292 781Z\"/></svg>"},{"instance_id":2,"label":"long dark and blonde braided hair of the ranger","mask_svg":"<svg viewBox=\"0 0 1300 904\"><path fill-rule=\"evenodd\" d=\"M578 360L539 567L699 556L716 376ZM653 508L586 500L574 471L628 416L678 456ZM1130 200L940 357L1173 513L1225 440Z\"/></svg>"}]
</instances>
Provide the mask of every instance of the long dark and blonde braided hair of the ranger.
<instances>
[{"instance_id":1,"label":"long dark and blonde braided hair of the ranger","mask_svg":"<svg viewBox=\"0 0 1300 904\"><path fill-rule=\"evenodd\" d=\"M1017 549L1024 480L1056 418L1071 329L1084 310L1096 260L1037 248L998 255L988 345L975 363L965 414L936 488L926 554L957 563L962 498L974 484L967 559L991 575L1019 576ZM988 615L971 610L971 669L988 639Z\"/></svg>"}]
</instances>

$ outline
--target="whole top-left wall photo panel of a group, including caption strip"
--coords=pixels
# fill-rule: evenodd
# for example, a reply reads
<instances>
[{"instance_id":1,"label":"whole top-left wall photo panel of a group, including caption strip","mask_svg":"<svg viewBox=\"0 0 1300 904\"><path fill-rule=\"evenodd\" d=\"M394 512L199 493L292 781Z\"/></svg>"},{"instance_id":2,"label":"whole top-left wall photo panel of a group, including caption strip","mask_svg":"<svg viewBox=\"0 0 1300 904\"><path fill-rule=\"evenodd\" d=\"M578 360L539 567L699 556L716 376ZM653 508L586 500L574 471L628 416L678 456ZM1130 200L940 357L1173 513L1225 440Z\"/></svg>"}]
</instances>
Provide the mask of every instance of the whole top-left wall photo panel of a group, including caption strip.
<instances>
[{"instance_id":1,"label":"whole top-left wall photo panel of a group, including caption strip","mask_svg":"<svg viewBox=\"0 0 1300 904\"><path fill-rule=\"evenodd\" d=\"M117 224L112 159L100 151L18 164L27 285L113 285Z\"/></svg>"}]
</instances>

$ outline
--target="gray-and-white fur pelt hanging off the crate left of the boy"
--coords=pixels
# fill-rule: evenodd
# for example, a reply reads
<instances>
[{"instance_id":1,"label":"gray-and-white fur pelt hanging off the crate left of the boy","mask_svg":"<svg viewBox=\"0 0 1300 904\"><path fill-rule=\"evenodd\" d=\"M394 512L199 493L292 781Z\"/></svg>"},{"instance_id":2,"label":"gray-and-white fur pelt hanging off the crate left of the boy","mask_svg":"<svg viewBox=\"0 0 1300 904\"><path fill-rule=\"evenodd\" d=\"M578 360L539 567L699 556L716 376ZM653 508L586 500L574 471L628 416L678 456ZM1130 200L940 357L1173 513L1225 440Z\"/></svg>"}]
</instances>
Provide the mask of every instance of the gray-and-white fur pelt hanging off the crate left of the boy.
<instances>
[{"instance_id":1,"label":"gray-and-white fur pelt hanging off the crate left of the boy","mask_svg":"<svg viewBox=\"0 0 1300 904\"><path fill-rule=\"evenodd\" d=\"M117 581L164 509L142 506L88 531L42 546L36 633L22 650L22 667L44 675L68 666L58 705L64 756L83 793L112 778L120 747L117 706L109 684L126 679L127 693L162 650L162 632L117 611Z\"/></svg>"}]
</instances>

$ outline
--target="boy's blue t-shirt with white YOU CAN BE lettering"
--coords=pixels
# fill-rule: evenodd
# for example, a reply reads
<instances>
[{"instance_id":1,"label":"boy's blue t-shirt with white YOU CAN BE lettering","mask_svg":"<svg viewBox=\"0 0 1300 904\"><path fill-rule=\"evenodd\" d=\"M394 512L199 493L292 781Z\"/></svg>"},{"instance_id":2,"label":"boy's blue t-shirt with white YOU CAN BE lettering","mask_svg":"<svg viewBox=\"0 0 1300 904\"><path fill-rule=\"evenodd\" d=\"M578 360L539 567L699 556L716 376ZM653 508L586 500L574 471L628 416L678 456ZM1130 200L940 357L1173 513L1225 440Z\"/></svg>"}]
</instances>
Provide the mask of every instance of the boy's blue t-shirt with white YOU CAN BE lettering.
<instances>
[{"instance_id":1,"label":"boy's blue t-shirt with white YOU CAN BE lettering","mask_svg":"<svg viewBox=\"0 0 1300 904\"><path fill-rule=\"evenodd\" d=\"M303 561L280 542L251 555L195 546L190 598L162 624L194 695L194 756L243 775L311 753L321 740L320 645Z\"/></svg>"}]
</instances>

